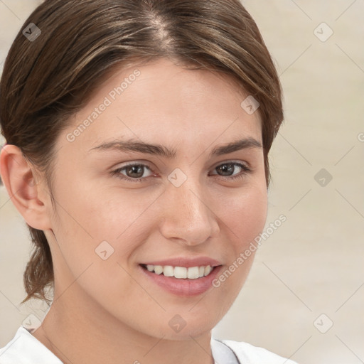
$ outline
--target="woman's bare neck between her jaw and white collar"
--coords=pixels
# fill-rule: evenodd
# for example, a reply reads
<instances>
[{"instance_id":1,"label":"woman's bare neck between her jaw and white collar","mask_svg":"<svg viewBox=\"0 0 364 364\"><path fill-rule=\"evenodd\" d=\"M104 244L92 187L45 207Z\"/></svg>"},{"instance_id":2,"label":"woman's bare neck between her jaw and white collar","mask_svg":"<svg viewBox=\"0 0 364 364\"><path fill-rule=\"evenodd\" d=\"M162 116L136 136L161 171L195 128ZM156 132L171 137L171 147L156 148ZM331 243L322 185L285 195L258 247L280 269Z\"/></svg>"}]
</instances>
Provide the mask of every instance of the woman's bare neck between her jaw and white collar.
<instances>
[{"instance_id":1,"label":"woman's bare neck between her jaw and white collar","mask_svg":"<svg viewBox=\"0 0 364 364\"><path fill-rule=\"evenodd\" d=\"M181 340L149 336L110 315L77 282L60 291L33 336L64 364L214 363L210 331Z\"/></svg>"}]
</instances>

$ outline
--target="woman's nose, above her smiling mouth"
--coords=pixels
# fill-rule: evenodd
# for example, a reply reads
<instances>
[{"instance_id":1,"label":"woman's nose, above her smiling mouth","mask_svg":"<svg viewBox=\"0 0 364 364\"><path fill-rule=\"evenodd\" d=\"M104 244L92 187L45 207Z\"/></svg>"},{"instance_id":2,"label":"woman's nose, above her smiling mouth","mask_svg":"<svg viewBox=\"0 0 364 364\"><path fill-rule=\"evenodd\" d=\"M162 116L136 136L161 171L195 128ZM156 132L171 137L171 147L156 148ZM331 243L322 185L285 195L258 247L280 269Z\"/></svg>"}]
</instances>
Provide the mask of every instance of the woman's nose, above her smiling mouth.
<instances>
[{"instance_id":1,"label":"woman's nose, above her smiling mouth","mask_svg":"<svg viewBox=\"0 0 364 364\"><path fill-rule=\"evenodd\" d=\"M213 200L203 186L191 178L176 187L168 185L163 194L161 234L184 245L198 245L220 232Z\"/></svg>"}]
</instances>

